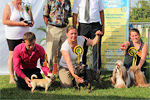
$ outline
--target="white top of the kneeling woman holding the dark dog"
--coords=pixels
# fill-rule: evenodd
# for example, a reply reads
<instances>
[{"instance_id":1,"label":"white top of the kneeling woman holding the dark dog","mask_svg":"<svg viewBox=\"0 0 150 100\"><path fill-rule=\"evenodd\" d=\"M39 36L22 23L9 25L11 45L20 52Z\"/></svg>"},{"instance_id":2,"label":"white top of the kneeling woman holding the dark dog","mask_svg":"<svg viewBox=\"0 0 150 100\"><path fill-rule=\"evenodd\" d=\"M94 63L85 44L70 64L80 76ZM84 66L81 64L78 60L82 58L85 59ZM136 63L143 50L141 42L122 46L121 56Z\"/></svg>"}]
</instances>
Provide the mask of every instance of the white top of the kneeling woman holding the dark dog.
<instances>
[{"instance_id":1,"label":"white top of the kneeling woman holding the dark dog","mask_svg":"<svg viewBox=\"0 0 150 100\"><path fill-rule=\"evenodd\" d=\"M80 45L81 47L83 47L84 45L84 41L85 39L82 37L82 36L78 36L77 37L77 44ZM78 64L78 57L77 55L74 54L74 52L72 51L72 48L70 47L69 43L68 43L68 40L66 40L62 46L61 46L61 49L60 51L62 50L65 50L65 51L68 51L69 52L69 55L70 55L70 58L71 58L71 61L72 61L72 65L75 66ZM68 68L67 67L67 64L63 58L63 56L61 56L61 59L60 59L60 62L59 62L60 66L62 67L65 67L65 68Z\"/></svg>"}]
</instances>

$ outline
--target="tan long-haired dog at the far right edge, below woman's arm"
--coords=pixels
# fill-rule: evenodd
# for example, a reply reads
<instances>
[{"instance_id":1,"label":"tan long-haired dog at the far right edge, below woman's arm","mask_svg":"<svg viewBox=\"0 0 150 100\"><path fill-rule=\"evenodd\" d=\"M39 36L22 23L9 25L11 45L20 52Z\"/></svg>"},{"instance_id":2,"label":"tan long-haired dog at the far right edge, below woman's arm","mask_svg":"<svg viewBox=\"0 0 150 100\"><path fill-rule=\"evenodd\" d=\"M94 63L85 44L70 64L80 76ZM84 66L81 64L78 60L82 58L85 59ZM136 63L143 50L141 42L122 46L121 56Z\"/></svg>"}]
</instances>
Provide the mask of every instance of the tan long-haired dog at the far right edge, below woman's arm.
<instances>
[{"instance_id":1,"label":"tan long-haired dog at the far right edge, below woman's arm","mask_svg":"<svg viewBox=\"0 0 150 100\"><path fill-rule=\"evenodd\" d=\"M142 73L142 71L137 66L131 66L129 68L129 73L135 86L150 87L150 84L148 84L146 81L144 73Z\"/></svg>"}]
</instances>

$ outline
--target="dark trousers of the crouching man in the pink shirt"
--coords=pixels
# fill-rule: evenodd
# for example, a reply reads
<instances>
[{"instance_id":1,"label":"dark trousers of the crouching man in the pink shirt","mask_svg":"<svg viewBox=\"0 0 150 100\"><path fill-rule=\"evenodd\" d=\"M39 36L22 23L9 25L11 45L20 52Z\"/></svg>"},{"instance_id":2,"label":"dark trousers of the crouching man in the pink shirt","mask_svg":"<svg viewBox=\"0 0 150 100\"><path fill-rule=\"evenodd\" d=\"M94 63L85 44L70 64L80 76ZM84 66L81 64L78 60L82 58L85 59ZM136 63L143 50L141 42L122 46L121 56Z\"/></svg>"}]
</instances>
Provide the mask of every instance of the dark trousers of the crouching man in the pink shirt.
<instances>
[{"instance_id":1,"label":"dark trousers of the crouching man in the pink shirt","mask_svg":"<svg viewBox=\"0 0 150 100\"><path fill-rule=\"evenodd\" d=\"M39 68L34 68L34 69L22 69L22 72L29 78L31 79L31 76L33 74L37 75L38 79L42 79L42 75L40 73L40 69ZM18 88L22 88L22 89L31 89L30 87L28 87L28 85L26 84L25 80L22 79L21 77L17 77L17 87Z\"/></svg>"}]
</instances>

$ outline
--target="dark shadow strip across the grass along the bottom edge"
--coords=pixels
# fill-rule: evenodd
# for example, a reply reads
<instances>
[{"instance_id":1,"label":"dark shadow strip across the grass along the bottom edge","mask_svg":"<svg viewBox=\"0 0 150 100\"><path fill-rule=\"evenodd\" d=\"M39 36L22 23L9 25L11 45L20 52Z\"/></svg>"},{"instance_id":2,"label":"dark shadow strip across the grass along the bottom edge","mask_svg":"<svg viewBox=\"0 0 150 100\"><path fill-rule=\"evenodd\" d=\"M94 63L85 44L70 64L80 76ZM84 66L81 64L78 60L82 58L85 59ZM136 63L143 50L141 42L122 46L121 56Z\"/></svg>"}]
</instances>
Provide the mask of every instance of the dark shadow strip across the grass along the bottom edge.
<instances>
[{"instance_id":1,"label":"dark shadow strip across the grass along the bottom edge","mask_svg":"<svg viewBox=\"0 0 150 100\"><path fill-rule=\"evenodd\" d=\"M79 100L79 99L135 99L132 97L122 97L122 96L113 96L113 95L106 95L106 96L95 96L95 95L80 95L80 94L63 94L63 93L54 93L53 91L49 90L47 93L36 91L34 93L31 93L29 90L22 90L18 88L5 88L1 90L1 98L0 99L49 99L49 100L55 100L55 99L65 99L65 100ZM145 98L136 98L136 99L145 99Z\"/></svg>"}]
</instances>

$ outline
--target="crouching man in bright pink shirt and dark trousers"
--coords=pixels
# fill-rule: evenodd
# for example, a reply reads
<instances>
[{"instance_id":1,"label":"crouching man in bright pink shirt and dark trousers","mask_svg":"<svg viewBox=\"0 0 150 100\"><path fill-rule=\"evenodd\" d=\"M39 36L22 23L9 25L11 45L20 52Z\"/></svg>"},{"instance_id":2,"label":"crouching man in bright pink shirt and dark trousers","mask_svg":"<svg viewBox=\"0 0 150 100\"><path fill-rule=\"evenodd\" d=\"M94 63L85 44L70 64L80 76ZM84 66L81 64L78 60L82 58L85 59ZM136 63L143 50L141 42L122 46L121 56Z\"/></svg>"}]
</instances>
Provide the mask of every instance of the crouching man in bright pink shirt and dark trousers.
<instances>
[{"instance_id":1,"label":"crouching man in bright pink shirt and dark trousers","mask_svg":"<svg viewBox=\"0 0 150 100\"><path fill-rule=\"evenodd\" d=\"M17 77L17 87L30 89L30 78L32 74L36 74L38 78L42 78L40 69L37 68L37 61L40 58L41 69L47 76L50 73L47 67L45 50L39 44L36 44L36 37L32 32L26 32L23 35L24 43L19 44L14 49L13 67Z\"/></svg>"}]
</instances>

